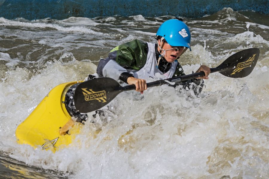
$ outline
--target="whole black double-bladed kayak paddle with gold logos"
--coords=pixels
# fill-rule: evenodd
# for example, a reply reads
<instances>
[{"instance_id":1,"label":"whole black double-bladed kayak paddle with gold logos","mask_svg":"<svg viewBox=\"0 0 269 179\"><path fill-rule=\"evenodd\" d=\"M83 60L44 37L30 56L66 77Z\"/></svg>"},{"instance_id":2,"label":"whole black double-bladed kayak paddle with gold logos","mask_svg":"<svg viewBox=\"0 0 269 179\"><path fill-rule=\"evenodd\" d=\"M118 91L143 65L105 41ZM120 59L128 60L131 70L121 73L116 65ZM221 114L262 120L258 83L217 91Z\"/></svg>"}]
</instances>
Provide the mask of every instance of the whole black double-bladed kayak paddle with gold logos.
<instances>
[{"instance_id":1,"label":"whole black double-bladed kayak paddle with gold logos","mask_svg":"<svg viewBox=\"0 0 269 179\"><path fill-rule=\"evenodd\" d=\"M220 72L230 78L243 78L249 75L255 67L259 58L259 49L250 48L231 55L218 67L210 68L211 73ZM204 76L204 72L168 78L147 83L147 87L155 87L168 82L178 83L181 81ZM135 90L135 85L120 86L112 78L94 78L80 83L74 93L74 103L77 111L87 113L100 109L107 105L119 93Z\"/></svg>"}]
</instances>

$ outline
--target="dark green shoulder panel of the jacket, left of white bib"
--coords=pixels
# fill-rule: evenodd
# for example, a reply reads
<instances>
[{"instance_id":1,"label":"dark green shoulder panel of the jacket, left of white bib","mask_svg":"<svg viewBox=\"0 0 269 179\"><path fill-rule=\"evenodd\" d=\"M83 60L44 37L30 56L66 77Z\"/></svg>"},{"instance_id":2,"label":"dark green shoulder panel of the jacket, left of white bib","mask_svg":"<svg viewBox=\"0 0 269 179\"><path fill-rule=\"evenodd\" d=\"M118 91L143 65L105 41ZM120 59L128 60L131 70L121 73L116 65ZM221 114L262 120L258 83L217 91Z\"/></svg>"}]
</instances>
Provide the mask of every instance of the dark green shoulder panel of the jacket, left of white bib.
<instances>
[{"instance_id":1,"label":"dark green shoulder panel of the jacket, left of white bib","mask_svg":"<svg viewBox=\"0 0 269 179\"><path fill-rule=\"evenodd\" d=\"M147 61L147 44L140 40L133 40L115 47L116 62L126 69L140 70Z\"/></svg>"}]
</instances>

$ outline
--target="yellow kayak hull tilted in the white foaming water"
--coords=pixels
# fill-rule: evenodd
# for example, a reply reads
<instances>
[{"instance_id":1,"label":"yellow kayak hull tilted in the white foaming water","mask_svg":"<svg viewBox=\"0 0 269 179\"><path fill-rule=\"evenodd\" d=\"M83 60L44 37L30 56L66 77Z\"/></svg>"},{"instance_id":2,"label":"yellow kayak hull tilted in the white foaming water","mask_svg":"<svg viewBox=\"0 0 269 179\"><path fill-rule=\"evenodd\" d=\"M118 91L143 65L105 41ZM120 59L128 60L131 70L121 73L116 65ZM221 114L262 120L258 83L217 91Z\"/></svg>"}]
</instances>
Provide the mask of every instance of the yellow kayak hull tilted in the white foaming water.
<instances>
[{"instance_id":1,"label":"yellow kayak hull tilted in the white foaming water","mask_svg":"<svg viewBox=\"0 0 269 179\"><path fill-rule=\"evenodd\" d=\"M53 152L72 143L75 134L80 133L81 123L76 123L65 134L59 130L71 120L65 108L65 94L69 87L78 83L72 81L53 88L33 112L16 129L17 142L33 147L50 149Z\"/></svg>"}]
</instances>

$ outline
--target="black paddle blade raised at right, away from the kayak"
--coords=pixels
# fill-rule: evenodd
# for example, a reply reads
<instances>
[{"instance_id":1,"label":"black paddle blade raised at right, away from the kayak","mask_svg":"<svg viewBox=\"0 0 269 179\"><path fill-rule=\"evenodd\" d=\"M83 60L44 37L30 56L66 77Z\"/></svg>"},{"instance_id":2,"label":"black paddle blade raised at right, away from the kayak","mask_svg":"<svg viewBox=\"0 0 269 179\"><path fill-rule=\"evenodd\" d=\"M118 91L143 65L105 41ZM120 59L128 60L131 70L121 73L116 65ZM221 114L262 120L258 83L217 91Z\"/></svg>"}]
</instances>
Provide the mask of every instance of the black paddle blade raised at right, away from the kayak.
<instances>
[{"instance_id":1,"label":"black paddle blade raised at right, away from the kayak","mask_svg":"<svg viewBox=\"0 0 269 179\"><path fill-rule=\"evenodd\" d=\"M217 69L223 69L219 72L230 78L246 77L255 67L259 54L258 48L242 50L227 58Z\"/></svg>"}]
</instances>

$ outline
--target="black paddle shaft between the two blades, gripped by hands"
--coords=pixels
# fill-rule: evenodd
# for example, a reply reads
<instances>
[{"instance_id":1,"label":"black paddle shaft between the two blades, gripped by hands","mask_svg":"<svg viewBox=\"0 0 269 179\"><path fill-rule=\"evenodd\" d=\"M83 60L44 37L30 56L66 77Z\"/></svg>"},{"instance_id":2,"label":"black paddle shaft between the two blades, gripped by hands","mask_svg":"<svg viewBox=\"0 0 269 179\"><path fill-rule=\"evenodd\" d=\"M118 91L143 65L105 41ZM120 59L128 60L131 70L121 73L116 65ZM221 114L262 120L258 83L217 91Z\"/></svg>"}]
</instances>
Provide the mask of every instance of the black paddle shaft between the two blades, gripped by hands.
<instances>
[{"instance_id":1,"label":"black paddle shaft between the two blades, gripped by hands","mask_svg":"<svg viewBox=\"0 0 269 179\"><path fill-rule=\"evenodd\" d=\"M216 68L210 68L210 73L214 73L214 72L219 72L219 71L223 71L225 69L219 69L218 67ZM165 80L157 80L157 81L153 81L150 83L147 83L147 87L156 87L156 86L161 86L163 84L167 84L167 81L170 81L172 83L178 83L181 81L186 81L186 80L190 80L193 78L198 78L201 76L204 76L205 73L204 72L197 72L197 73L192 73L189 75L184 75L184 76L179 76L179 77L174 77L174 78L167 78ZM122 91L129 91L129 90L135 90L135 85L128 85L125 87L122 87L120 90Z\"/></svg>"}]
</instances>

